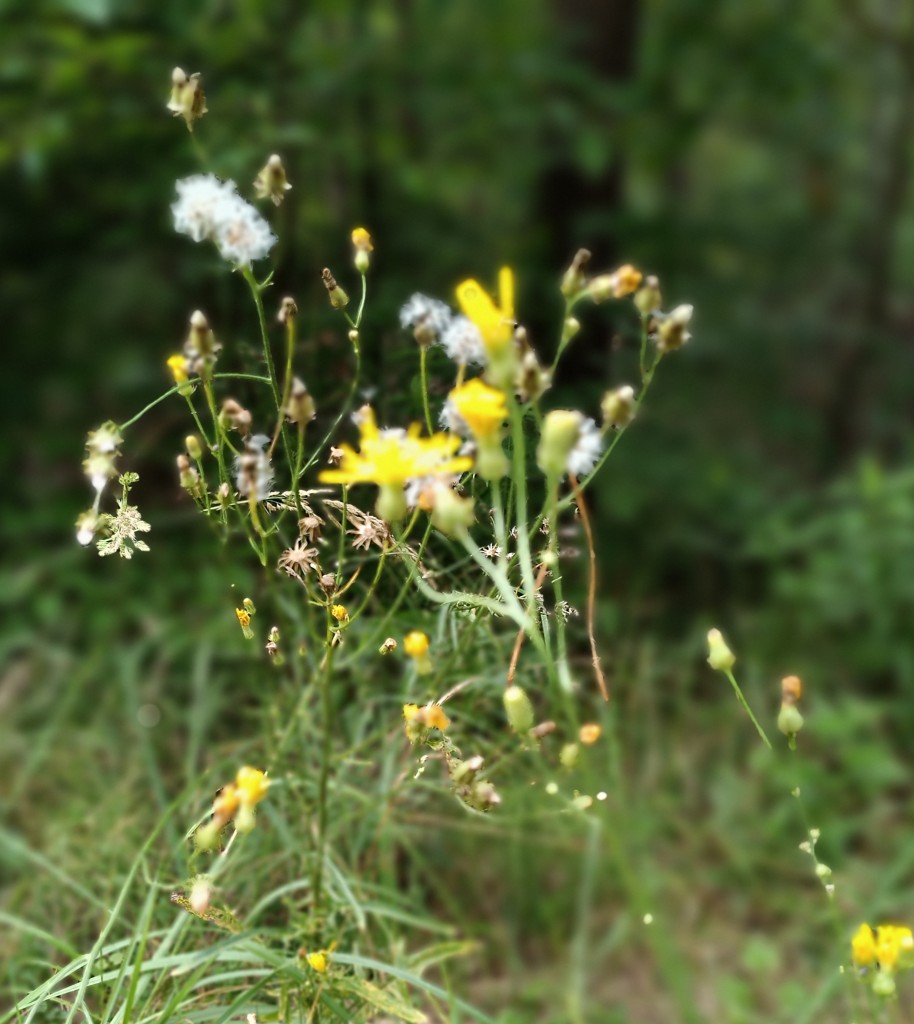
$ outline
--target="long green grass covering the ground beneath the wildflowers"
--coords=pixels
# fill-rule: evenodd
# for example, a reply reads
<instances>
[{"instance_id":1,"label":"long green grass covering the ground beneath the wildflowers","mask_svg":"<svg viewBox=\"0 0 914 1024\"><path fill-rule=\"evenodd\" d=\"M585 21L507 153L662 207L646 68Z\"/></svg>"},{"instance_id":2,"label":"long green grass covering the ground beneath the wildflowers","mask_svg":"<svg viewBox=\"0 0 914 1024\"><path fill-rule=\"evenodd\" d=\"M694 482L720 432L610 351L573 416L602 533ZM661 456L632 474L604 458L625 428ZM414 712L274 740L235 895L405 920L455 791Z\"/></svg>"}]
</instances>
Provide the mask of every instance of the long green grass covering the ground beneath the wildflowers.
<instances>
[{"instance_id":1,"label":"long green grass covering the ground beneath the wildflowers","mask_svg":"<svg viewBox=\"0 0 914 1024\"><path fill-rule=\"evenodd\" d=\"M21 1000L9 1019L271 1019L284 1007L306 1019L321 979L298 950L336 940L323 1013L337 1006L343 1019L347 998L367 996L382 1018L422 1008L500 1024L841 1020L845 949L797 850L796 784L848 929L905 916L907 780L877 739L878 703L812 696L798 758L771 758L694 645L622 630L613 702L591 702L604 738L570 772L556 767L558 739L541 757L515 750L488 816L454 802L434 760L411 778L418 755L390 663L343 676L331 909L314 920L316 709L241 639L231 583L256 581L233 579L214 546L204 573L160 562L138 593L131 566L90 577L80 555L3 581L0 959L4 1002ZM174 553L159 557L168 565ZM429 622L446 640L449 618ZM407 608L397 627L414 624ZM454 705L459 745L514 742L492 643L483 634L454 666L473 680ZM773 688L746 675L770 727ZM142 705L158 724L139 724ZM237 763L268 757L297 706L304 741L215 901L241 923L225 932L170 899L188 881L183 837ZM581 812L575 793L607 797Z\"/></svg>"}]
</instances>

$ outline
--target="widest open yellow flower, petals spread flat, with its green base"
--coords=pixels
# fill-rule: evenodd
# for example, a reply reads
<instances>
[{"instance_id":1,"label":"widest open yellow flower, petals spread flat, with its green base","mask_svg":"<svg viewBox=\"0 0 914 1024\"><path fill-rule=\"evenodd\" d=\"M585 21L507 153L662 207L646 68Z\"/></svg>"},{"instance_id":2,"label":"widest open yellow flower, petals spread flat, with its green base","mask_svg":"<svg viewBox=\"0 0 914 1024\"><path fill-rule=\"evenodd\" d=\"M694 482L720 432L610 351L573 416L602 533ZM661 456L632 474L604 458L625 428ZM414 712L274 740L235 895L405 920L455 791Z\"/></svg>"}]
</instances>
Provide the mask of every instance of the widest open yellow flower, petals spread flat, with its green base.
<instances>
[{"instance_id":1,"label":"widest open yellow flower, petals spread flat, with its green base","mask_svg":"<svg viewBox=\"0 0 914 1024\"><path fill-rule=\"evenodd\" d=\"M460 438L446 434L421 437L422 428L379 430L375 414L365 407L359 414L359 451L341 445L336 469L325 469L321 483L377 483L378 515L387 522L401 519L406 512L403 486L414 477L460 473L473 465L472 459L455 456Z\"/></svg>"}]
</instances>

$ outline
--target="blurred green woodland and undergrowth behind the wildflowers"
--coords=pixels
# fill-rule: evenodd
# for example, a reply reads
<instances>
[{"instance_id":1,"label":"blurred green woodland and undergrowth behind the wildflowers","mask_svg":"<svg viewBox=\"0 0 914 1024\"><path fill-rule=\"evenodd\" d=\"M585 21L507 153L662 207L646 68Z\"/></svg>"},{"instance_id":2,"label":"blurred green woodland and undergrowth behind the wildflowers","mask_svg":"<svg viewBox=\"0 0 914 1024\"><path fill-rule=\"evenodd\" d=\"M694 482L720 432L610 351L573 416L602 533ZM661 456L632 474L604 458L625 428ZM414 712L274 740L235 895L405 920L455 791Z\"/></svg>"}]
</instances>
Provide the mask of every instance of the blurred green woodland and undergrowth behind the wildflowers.
<instances>
[{"instance_id":1,"label":"blurred green woodland and undergrowth behind the wildflowers","mask_svg":"<svg viewBox=\"0 0 914 1024\"><path fill-rule=\"evenodd\" d=\"M218 654L234 629L228 585L244 575L181 501L179 408L161 407L128 444L156 530L142 566L99 564L73 543L85 431L165 389L189 312L206 310L243 355L259 344L244 290L171 226L174 179L199 169L164 109L175 65L204 74L211 113L195 134L219 174L246 186L284 157L294 187L276 214L275 295L303 309L308 383L328 416L348 370L319 271L345 279L355 224L377 245L363 336L382 410L417 402L402 384L409 352L393 345L414 291L448 298L507 262L548 353L557 280L579 245L598 268L657 273L665 305L695 304L694 341L664 364L593 494L599 637L637 726L633 785L682 822L666 867L694 887L683 932L709 929L708 972L733 968L714 1006L729 1020L793 1013L801 979L829 973L825 940L796 920L798 900L810 920L822 901L793 853L793 783L746 753L703 636L725 630L769 718L780 676L803 677L804 784L825 859L853 880L852 915L910 922L914 8L2 0L0 769L13 784L0 868L27 916L63 910L32 884L25 847L80 869L93 816L141 834L131 785L158 776L138 752L192 772L245 716L246 684ZM620 306L587 321L555 400L596 412L633 373L633 324ZM173 727L137 745L146 700ZM111 792L75 762L127 781ZM668 846L653 827L645 844ZM533 869L507 847L498 856L494 878L455 868L453 886L479 887L483 904L494 887L492 927L538 929L532 945L548 947L523 880ZM649 979L629 977L659 1006Z\"/></svg>"}]
</instances>

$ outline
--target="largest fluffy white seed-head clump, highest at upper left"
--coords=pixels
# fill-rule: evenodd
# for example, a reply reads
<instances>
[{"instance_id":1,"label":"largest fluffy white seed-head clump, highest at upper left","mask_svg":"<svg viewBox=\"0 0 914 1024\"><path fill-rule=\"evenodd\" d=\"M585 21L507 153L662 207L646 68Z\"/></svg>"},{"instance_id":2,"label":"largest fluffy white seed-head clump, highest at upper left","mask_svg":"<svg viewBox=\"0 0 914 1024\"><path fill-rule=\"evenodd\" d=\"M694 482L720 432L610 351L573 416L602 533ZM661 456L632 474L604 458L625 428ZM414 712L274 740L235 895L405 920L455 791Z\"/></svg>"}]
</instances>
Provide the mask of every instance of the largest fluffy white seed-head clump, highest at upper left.
<instances>
[{"instance_id":1,"label":"largest fluffy white seed-head clump, highest at upper left","mask_svg":"<svg viewBox=\"0 0 914 1024\"><path fill-rule=\"evenodd\" d=\"M264 259L276 237L261 215L235 191L233 181L194 174L177 181L172 204L175 230L194 242L214 242L220 255L238 266Z\"/></svg>"}]
</instances>

